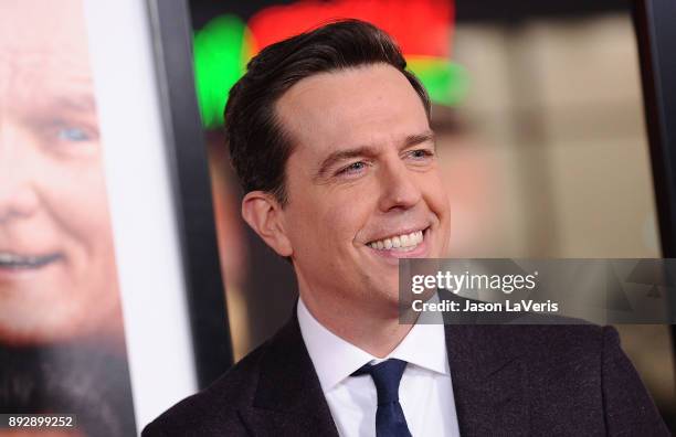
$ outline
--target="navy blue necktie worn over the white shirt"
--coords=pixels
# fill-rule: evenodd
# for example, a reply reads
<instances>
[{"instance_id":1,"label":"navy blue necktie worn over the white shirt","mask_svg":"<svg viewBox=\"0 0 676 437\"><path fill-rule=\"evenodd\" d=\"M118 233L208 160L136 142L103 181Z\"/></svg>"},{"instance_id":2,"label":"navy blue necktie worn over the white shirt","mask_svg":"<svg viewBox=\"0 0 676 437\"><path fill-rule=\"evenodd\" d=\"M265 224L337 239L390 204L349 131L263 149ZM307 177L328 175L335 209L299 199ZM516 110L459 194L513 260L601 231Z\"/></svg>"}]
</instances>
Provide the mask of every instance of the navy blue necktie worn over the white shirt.
<instances>
[{"instance_id":1,"label":"navy blue necktie worn over the white shirt","mask_svg":"<svg viewBox=\"0 0 676 437\"><path fill-rule=\"evenodd\" d=\"M371 375L378 392L376 435L378 437L411 437L406 418L399 403L399 382L406 362L390 359L376 365L365 364L352 376Z\"/></svg>"}]
</instances>

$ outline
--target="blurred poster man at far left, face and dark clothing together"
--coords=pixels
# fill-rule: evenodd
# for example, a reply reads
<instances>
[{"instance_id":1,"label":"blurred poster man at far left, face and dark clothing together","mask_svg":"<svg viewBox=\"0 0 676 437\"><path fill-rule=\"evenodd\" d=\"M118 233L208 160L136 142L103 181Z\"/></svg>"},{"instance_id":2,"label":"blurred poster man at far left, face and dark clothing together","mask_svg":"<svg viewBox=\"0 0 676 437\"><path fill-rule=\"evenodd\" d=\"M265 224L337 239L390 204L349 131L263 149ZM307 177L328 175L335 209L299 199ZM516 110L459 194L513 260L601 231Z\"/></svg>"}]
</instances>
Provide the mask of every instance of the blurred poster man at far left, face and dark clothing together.
<instances>
[{"instance_id":1,"label":"blurred poster man at far left, face and dark clothing together","mask_svg":"<svg viewBox=\"0 0 676 437\"><path fill-rule=\"evenodd\" d=\"M0 351L2 413L134 425L80 0L0 4Z\"/></svg>"}]
</instances>

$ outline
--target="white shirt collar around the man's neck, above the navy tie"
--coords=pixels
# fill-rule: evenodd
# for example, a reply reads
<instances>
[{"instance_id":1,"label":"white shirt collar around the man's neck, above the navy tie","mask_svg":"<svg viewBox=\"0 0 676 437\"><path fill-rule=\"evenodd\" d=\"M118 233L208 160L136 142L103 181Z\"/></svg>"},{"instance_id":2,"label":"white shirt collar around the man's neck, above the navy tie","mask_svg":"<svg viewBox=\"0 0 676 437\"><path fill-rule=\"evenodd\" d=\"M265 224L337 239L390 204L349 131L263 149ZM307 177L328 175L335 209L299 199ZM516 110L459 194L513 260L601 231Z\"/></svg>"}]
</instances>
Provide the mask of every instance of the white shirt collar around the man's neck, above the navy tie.
<instances>
[{"instance_id":1,"label":"white shirt collar around the man's neck, above the navy tie","mask_svg":"<svg viewBox=\"0 0 676 437\"><path fill-rule=\"evenodd\" d=\"M303 299L298 299L297 313L305 347L325 393L362 365L382 361L326 329L309 312ZM390 358L450 374L443 324L416 323L385 359Z\"/></svg>"}]
</instances>

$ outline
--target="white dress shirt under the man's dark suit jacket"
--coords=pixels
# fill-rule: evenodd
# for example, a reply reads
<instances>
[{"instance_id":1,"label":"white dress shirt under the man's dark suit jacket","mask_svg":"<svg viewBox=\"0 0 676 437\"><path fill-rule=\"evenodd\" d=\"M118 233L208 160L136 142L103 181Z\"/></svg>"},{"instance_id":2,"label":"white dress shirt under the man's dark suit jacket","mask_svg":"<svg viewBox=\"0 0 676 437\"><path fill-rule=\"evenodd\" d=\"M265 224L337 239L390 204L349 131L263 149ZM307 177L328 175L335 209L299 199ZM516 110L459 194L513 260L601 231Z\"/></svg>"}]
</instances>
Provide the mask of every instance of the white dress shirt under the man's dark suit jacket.
<instances>
[{"instance_id":1,"label":"white dress shirt under the man's dark suit jacket","mask_svg":"<svg viewBox=\"0 0 676 437\"><path fill-rule=\"evenodd\" d=\"M377 392L371 377L351 377L363 364L399 359L409 364L399 402L412 436L460 436L442 324L415 324L384 359L342 340L298 300L303 340L341 437L376 436Z\"/></svg>"}]
</instances>

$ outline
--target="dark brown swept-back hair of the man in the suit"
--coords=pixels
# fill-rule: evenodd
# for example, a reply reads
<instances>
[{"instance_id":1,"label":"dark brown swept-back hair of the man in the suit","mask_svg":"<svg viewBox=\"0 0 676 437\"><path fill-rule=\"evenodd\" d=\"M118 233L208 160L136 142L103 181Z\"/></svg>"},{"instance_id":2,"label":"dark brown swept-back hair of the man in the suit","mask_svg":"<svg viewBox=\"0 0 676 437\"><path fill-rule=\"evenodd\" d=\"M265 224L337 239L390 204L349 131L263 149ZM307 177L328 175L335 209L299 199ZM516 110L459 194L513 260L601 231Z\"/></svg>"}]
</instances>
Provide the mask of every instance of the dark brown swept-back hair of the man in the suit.
<instances>
[{"instance_id":1,"label":"dark brown swept-back hair of the man in the suit","mask_svg":"<svg viewBox=\"0 0 676 437\"><path fill-rule=\"evenodd\" d=\"M397 43L370 23L336 21L268 45L253 57L225 106L230 159L244 192L270 192L282 206L288 201L285 166L293 142L275 115L275 104L287 89L318 73L379 63L392 65L409 79L429 117L427 93L405 70Z\"/></svg>"}]
</instances>

